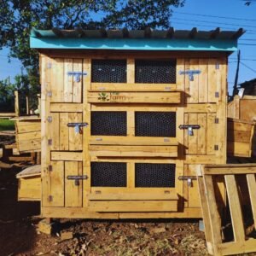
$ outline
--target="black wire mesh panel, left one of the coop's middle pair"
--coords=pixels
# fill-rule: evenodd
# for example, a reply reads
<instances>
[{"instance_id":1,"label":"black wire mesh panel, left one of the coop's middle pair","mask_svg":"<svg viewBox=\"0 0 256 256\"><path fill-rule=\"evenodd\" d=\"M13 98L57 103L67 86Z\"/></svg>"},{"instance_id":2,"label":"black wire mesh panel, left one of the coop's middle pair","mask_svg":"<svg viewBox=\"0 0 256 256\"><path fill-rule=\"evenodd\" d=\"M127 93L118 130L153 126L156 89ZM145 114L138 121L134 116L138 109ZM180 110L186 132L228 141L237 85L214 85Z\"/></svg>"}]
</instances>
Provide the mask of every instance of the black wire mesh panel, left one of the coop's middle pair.
<instances>
[{"instance_id":1,"label":"black wire mesh panel, left one of the coop's middle pair","mask_svg":"<svg viewBox=\"0 0 256 256\"><path fill-rule=\"evenodd\" d=\"M91 112L91 135L126 136L127 119L123 111Z\"/></svg>"}]
</instances>

